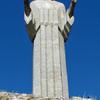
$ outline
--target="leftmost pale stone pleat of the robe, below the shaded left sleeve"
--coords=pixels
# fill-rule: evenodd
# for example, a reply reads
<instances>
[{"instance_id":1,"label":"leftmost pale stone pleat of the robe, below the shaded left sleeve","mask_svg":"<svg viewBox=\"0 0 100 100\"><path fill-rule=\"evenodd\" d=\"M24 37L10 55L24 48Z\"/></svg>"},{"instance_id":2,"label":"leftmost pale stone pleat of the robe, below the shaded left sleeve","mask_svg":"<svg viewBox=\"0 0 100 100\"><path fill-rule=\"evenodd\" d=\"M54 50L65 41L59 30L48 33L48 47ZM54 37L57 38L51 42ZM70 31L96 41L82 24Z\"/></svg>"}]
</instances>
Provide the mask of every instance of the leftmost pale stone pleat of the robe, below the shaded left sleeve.
<instances>
[{"instance_id":1,"label":"leftmost pale stone pleat of the robe, below the shaded left sleeve","mask_svg":"<svg viewBox=\"0 0 100 100\"><path fill-rule=\"evenodd\" d=\"M34 41L34 65L33 65L33 95L34 96L41 96L41 68L40 68L40 52L41 52L41 46L40 46L40 30L37 33L37 36Z\"/></svg>"}]
</instances>

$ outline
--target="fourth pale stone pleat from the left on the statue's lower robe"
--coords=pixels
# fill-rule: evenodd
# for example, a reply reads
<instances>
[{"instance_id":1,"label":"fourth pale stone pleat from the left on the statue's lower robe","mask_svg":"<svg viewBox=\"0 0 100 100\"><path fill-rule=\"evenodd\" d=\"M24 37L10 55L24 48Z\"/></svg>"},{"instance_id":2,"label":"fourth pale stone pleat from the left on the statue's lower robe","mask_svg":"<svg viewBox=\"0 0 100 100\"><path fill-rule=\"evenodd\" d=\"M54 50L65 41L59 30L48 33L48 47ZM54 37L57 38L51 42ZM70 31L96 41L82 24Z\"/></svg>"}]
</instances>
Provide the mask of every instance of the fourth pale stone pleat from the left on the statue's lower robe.
<instances>
[{"instance_id":1,"label":"fourth pale stone pleat from the left on the statue's lower robe","mask_svg":"<svg viewBox=\"0 0 100 100\"><path fill-rule=\"evenodd\" d=\"M54 53L54 71L55 71L55 97L62 96L61 64L59 49L58 25L53 26L53 53Z\"/></svg>"}]
</instances>

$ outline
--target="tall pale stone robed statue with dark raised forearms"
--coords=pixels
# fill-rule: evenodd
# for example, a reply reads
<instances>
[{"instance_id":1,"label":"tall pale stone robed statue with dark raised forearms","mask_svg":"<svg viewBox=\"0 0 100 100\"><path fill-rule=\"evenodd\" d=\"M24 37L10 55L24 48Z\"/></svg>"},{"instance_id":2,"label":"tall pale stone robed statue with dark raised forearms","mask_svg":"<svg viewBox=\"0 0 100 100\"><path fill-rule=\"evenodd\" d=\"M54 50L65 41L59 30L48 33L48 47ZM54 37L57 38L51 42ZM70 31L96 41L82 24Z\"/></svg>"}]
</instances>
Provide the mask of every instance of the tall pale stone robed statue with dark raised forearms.
<instances>
[{"instance_id":1,"label":"tall pale stone robed statue with dark raised forearms","mask_svg":"<svg viewBox=\"0 0 100 100\"><path fill-rule=\"evenodd\" d=\"M33 95L69 100L64 42L74 22L72 0L66 11L55 0L24 0L24 19L33 44Z\"/></svg>"}]
</instances>

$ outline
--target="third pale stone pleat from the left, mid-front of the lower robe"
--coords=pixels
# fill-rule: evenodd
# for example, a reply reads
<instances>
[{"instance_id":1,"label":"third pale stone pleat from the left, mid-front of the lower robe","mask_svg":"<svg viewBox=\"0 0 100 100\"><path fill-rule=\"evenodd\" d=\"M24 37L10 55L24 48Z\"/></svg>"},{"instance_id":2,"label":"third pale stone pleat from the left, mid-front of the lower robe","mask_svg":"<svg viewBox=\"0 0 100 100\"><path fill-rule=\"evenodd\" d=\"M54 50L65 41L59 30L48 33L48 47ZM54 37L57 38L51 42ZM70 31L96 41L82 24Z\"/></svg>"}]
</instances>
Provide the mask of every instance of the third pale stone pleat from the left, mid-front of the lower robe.
<instances>
[{"instance_id":1,"label":"third pale stone pleat from the left, mid-front of the lower robe","mask_svg":"<svg viewBox=\"0 0 100 100\"><path fill-rule=\"evenodd\" d=\"M53 68L53 45L52 45L52 27L46 27L46 49L47 49L47 85L48 97L54 97L54 68Z\"/></svg>"}]
</instances>

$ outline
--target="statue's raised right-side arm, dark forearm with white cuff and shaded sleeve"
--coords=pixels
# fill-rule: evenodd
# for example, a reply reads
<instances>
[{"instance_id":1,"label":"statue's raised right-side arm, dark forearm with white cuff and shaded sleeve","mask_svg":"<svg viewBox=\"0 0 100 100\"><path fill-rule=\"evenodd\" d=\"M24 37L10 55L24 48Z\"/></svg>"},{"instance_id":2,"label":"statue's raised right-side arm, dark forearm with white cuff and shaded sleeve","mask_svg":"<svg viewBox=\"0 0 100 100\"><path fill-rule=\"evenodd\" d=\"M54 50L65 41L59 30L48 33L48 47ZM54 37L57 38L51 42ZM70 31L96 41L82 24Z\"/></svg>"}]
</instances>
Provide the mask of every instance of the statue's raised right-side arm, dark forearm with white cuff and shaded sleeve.
<instances>
[{"instance_id":1,"label":"statue's raised right-side arm, dark forearm with white cuff and shaded sleeve","mask_svg":"<svg viewBox=\"0 0 100 100\"><path fill-rule=\"evenodd\" d=\"M67 22L64 26L63 36L65 41L68 39L68 35L70 32L70 29L74 23L74 9L76 5L77 0L72 0L69 9L67 10Z\"/></svg>"}]
</instances>

